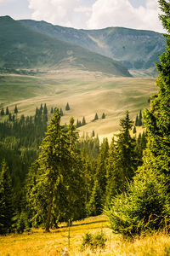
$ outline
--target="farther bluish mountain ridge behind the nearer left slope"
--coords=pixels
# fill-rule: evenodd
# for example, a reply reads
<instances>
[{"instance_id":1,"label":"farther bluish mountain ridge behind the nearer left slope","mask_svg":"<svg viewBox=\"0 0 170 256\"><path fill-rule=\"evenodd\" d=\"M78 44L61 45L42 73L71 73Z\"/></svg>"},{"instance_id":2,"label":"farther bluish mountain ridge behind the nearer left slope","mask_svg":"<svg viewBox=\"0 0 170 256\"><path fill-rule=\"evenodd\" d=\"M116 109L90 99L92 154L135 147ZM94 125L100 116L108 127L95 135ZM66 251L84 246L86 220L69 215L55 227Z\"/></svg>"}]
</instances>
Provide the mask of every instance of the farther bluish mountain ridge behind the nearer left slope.
<instances>
[{"instance_id":1,"label":"farther bluish mountain ridge behind the nearer left slope","mask_svg":"<svg viewBox=\"0 0 170 256\"><path fill-rule=\"evenodd\" d=\"M20 20L21 24L52 38L77 44L120 61L128 69L153 69L154 61L165 49L165 38L158 32L108 27L100 30L77 30L54 26L45 21Z\"/></svg>"}]
</instances>

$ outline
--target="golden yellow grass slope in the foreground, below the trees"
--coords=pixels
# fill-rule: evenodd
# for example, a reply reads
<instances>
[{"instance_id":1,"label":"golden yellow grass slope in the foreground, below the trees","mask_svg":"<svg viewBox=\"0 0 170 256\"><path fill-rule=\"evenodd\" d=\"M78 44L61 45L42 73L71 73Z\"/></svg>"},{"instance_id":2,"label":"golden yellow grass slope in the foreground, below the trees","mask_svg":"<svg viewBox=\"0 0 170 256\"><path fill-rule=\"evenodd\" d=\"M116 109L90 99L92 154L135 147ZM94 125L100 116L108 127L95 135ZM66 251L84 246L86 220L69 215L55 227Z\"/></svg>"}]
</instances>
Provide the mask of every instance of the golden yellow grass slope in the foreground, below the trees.
<instances>
[{"instance_id":1,"label":"golden yellow grass slope in the foreground, below the trees","mask_svg":"<svg viewBox=\"0 0 170 256\"><path fill-rule=\"evenodd\" d=\"M86 232L96 234L104 232L107 236L103 249L91 250L89 247L82 251L82 236ZM138 237L133 241L123 240L121 235L114 235L109 228L105 216L86 218L71 226L70 248L68 228L61 224L58 230L44 233L43 230L32 230L23 235L0 236L1 256L25 255L62 255L65 247L70 255L170 255L170 236L165 233L155 233L152 236Z\"/></svg>"}]
</instances>

